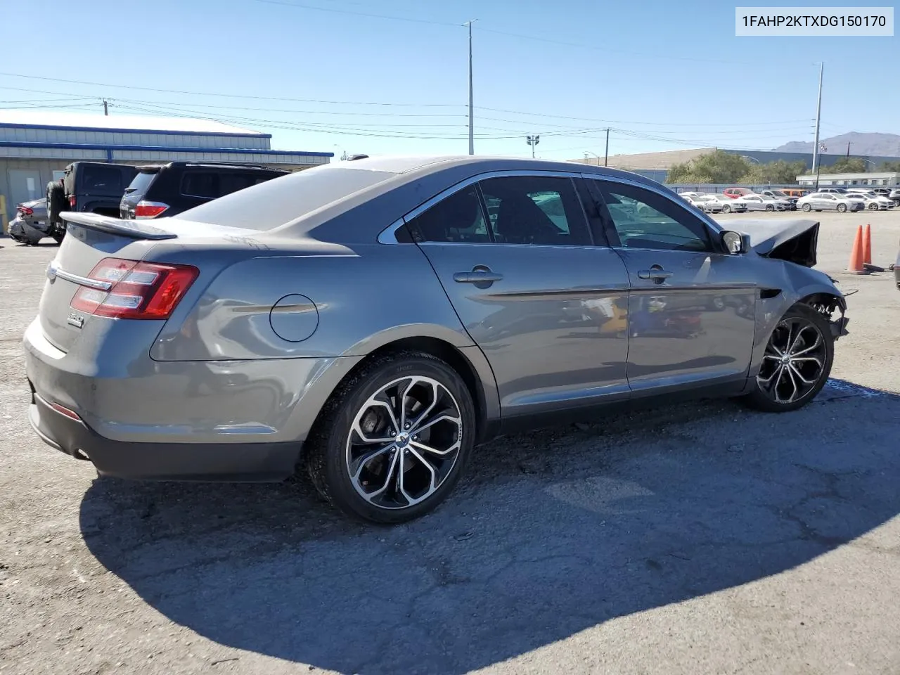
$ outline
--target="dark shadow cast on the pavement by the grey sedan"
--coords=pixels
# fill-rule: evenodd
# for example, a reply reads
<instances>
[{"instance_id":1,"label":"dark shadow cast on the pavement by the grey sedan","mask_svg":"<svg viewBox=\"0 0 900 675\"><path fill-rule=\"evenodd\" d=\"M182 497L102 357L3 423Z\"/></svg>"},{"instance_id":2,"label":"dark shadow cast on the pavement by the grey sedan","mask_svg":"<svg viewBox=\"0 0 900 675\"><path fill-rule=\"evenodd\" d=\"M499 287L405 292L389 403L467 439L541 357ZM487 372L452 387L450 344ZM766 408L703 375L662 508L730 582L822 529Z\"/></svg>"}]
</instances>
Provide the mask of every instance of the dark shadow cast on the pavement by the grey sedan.
<instances>
[{"instance_id":1,"label":"dark shadow cast on the pavement by the grey sedan","mask_svg":"<svg viewBox=\"0 0 900 675\"><path fill-rule=\"evenodd\" d=\"M718 401L504 437L399 527L350 522L302 481L99 480L80 525L149 606L216 643L463 673L866 535L900 513L898 411L832 381L788 415Z\"/></svg>"}]
</instances>

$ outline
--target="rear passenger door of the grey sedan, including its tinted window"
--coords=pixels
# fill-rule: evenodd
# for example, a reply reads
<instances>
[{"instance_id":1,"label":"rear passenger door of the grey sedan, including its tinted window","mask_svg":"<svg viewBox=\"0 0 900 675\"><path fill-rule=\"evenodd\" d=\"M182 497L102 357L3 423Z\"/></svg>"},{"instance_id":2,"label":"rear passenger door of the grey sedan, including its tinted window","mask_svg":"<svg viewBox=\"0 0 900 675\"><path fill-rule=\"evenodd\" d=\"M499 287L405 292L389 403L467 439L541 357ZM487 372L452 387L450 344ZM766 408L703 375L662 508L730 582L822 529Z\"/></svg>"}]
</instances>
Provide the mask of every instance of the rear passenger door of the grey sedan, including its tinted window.
<instances>
[{"instance_id":1,"label":"rear passenger door of the grey sedan, including its tinted window","mask_svg":"<svg viewBox=\"0 0 900 675\"><path fill-rule=\"evenodd\" d=\"M628 275L568 175L508 175L408 220L491 364L504 417L626 398Z\"/></svg>"}]
</instances>

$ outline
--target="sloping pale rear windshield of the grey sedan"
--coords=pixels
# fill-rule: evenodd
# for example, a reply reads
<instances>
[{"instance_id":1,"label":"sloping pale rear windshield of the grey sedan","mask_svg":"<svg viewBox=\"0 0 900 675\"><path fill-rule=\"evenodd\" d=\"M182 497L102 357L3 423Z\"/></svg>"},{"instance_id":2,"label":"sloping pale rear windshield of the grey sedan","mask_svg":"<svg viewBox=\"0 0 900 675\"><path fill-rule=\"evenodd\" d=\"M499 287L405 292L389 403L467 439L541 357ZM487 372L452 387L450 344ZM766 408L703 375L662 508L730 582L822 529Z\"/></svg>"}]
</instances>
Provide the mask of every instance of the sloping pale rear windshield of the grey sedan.
<instances>
[{"instance_id":1,"label":"sloping pale rear windshield of the grey sedan","mask_svg":"<svg viewBox=\"0 0 900 675\"><path fill-rule=\"evenodd\" d=\"M319 166L226 194L188 209L179 217L232 228L274 229L394 175L387 171Z\"/></svg>"}]
</instances>

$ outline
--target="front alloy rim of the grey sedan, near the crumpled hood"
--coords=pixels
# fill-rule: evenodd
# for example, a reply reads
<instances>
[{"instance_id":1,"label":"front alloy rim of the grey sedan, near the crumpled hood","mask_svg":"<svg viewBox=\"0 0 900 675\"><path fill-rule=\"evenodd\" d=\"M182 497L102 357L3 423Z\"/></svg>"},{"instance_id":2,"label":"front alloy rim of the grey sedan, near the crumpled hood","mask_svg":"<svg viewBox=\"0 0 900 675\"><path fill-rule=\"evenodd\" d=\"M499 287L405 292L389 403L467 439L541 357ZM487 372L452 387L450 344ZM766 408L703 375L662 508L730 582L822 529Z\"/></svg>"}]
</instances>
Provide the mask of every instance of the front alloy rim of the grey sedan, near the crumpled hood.
<instances>
[{"instance_id":1,"label":"front alloy rim of the grey sedan, near the crumpled hood","mask_svg":"<svg viewBox=\"0 0 900 675\"><path fill-rule=\"evenodd\" d=\"M756 381L771 401L787 405L815 389L825 358L825 339L815 323L789 317L772 331Z\"/></svg>"}]
</instances>

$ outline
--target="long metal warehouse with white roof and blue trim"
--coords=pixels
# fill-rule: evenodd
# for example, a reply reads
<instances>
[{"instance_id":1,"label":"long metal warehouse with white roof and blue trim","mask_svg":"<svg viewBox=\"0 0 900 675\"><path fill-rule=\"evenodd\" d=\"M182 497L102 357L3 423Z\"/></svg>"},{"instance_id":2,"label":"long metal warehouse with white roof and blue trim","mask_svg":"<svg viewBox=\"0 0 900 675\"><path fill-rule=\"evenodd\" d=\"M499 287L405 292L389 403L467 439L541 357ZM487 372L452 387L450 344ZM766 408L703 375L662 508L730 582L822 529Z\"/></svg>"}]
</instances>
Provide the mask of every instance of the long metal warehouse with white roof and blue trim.
<instances>
[{"instance_id":1,"label":"long metal warehouse with white roof and blue trim","mask_svg":"<svg viewBox=\"0 0 900 675\"><path fill-rule=\"evenodd\" d=\"M0 194L6 216L44 196L76 160L158 164L234 162L287 169L328 164L332 152L273 150L272 135L218 121L67 112L0 111Z\"/></svg>"}]
</instances>

